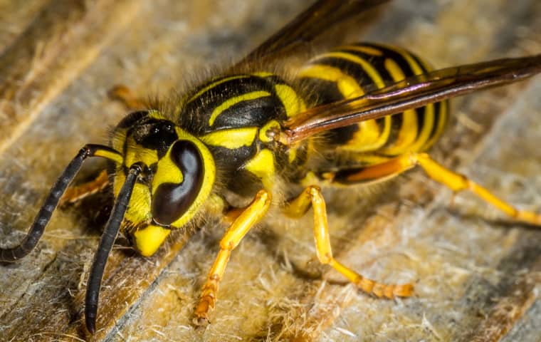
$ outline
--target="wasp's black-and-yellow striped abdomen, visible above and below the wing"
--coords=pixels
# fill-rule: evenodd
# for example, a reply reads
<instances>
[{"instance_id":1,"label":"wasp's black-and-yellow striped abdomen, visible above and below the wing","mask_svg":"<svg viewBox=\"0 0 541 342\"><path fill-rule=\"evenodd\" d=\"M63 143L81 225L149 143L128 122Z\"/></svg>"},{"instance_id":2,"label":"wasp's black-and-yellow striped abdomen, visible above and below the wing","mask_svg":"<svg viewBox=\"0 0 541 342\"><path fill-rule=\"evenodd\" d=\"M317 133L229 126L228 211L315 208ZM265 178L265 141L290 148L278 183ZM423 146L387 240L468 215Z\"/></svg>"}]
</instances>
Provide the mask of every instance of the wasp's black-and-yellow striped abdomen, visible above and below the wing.
<instances>
[{"instance_id":1,"label":"wasp's black-and-yellow striped abdomen, visible above and below the wing","mask_svg":"<svg viewBox=\"0 0 541 342\"><path fill-rule=\"evenodd\" d=\"M427 71L426 63L413 53L359 43L316 56L298 77L301 86L308 90L310 103L321 105L354 98ZM448 103L434 103L332 130L325 142L337 153L358 153L356 160L370 165L404 152L426 150L443 132L447 118Z\"/></svg>"}]
</instances>

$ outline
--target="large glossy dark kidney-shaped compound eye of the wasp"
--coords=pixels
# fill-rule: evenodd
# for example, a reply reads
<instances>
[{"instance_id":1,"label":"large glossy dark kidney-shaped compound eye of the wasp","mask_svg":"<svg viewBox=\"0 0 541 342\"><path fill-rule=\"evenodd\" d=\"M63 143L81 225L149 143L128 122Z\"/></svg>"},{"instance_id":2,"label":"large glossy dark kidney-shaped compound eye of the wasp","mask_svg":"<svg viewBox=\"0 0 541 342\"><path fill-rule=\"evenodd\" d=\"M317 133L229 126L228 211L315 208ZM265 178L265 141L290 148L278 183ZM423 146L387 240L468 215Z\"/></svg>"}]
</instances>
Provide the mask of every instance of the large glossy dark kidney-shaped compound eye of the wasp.
<instances>
[{"instance_id":1,"label":"large glossy dark kidney-shaped compound eye of the wasp","mask_svg":"<svg viewBox=\"0 0 541 342\"><path fill-rule=\"evenodd\" d=\"M158 162L157 180L179 174L180 182L163 182L152 195L152 217L158 224L169 225L187 211L194 202L204 179L201 152L189 140L178 140ZM166 176L166 173L169 175Z\"/></svg>"}]
</instances>

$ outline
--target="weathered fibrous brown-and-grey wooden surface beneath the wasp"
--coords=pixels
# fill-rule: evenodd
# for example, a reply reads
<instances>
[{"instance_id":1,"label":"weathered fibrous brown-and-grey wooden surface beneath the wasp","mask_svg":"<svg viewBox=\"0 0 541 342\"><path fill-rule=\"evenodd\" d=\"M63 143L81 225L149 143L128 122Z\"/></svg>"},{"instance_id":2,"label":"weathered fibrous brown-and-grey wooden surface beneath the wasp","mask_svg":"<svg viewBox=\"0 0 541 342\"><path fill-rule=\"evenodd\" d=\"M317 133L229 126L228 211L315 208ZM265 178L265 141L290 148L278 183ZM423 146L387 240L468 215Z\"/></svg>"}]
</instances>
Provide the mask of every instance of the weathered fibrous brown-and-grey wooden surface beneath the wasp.
<instances>
[{"instance_id":1,"label":"weathered fibrous brown-and-grey wooden surface beneath the wasp","mask_svg":"<svg viewBox=\"0 0 541 342\"><path fill-rule=\"evenodd\" d=\"M310 1L0 1L0 244L23 237L85 142L125 115L107 90L167 95L243 56ZM360 39L434 66L541 52L537 0L399 0ZM453 101L433 155L521 208L541 211L541 78ZM84 177L103 165L88 162ZM335 256L410 299L359 293L317 266L310 219L272 216L231 258L212 324L191 326L223 227L107 265L98 332L83 327L107 196L56 212L36 251L0 266L0 341L539 341L541 231L419 170L327 191ZM103 204L103 205L102 205Z\"/></svg>"}]
</instances>

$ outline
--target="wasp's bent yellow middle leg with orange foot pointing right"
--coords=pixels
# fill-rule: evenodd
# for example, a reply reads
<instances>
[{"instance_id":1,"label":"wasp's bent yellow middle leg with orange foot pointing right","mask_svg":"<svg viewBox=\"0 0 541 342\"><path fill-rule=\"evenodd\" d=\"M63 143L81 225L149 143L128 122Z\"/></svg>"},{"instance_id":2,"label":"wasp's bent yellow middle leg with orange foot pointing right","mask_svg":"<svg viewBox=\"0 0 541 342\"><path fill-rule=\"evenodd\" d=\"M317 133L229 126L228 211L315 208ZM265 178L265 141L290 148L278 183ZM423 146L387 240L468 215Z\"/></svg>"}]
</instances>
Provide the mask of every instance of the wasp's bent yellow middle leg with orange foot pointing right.
<instances>
[{"instance_id":1,"label":"wasp's bent yellow middle leg with orange foot pointing right","mask_svg":"<svg viewBox=\"0 0 541 342\"><path fill-rule=\"evenodd\" d=\"M368 294L374 294L378 297L385 296L389 299L395 296L407 297L413 294L414 286L412 284L382 284L372 279L364 278L364 276L340 264L340 262L332 257L325 199L323 199L319 187L313 185L307 187L303 193L288 203L285 213L291 217L302 216L308 210L310 204L314 211L314 237L317 259L322 264L332 266L332 268L339 271L353 284L357 285L359 289L362 289L362 291Z\"/></svg>"}]
</instances>

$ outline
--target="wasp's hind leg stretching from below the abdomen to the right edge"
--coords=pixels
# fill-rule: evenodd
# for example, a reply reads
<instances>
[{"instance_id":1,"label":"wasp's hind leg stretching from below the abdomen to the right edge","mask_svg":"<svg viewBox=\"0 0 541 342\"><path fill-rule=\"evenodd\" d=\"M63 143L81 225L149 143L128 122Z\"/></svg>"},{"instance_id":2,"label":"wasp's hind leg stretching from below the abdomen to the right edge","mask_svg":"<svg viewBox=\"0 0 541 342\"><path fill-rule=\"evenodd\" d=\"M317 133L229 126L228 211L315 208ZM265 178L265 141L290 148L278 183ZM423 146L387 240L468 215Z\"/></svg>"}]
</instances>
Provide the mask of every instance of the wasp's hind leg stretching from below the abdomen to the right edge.
<instances>
[{"instance_id":1,"label":"wasp's hind leg stretching from below the abdomen to the right edge","mask_svg":"<svg viewBox=\"0 0 541 342\"><path fill-rule=\"evenodd\" d=\"M398 175L399 173L410 170L418 165L422 167L429 177L450 188L453 192L470 190L485 202L492 204L509 217L513 217L513 219L528 224L541 225L540 214L513 207L511 204L508 204L490 193L485 187L469 180L465 175L458 174L443 167L443 165L433 160L427 153L409 152L378 165L336 172L332 178L333 182L342 184L369 182L392 175Z\"/></svg>"}]
</instances>

